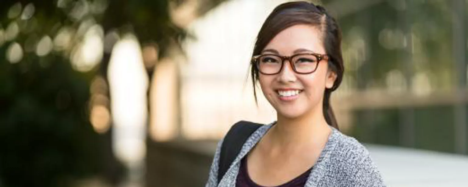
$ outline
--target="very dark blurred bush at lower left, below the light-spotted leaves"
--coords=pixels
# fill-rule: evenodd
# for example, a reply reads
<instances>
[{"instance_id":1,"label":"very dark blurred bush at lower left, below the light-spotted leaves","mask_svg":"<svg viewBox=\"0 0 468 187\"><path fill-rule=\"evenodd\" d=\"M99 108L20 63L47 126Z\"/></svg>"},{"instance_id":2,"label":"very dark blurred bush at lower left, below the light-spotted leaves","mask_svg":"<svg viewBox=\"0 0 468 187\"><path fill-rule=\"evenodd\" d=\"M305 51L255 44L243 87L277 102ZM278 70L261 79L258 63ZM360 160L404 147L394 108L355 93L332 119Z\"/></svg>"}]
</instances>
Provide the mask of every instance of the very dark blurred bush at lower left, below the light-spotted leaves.
<instances>
[{"instance_id":1,"label":"very dark blurred bush at lower left, below the light-spotted leaves","mask_svg":"<svg viewBox=\"0 0 468 187\"><path fill-rule=\"evenodd\" d=\"M87 75L64 58L28 55L2 61L0 79L0 186L63 187L99 171Z\"/></svg>"}]
</instances>

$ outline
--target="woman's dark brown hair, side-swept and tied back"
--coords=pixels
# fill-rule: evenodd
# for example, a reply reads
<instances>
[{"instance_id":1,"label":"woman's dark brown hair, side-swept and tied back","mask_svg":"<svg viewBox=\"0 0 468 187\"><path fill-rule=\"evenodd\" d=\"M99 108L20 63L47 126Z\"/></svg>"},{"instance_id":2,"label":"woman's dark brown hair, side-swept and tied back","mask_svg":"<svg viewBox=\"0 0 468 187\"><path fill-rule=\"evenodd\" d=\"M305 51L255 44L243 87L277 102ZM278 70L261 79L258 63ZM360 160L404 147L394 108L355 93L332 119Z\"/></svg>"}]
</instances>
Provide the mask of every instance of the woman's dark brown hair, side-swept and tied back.
<instances>
[{"instance_id":1,"label":"woman's dark brown hair, side-swept and tied back","mask_svg":"<svg viewBox=\"0 0 468 187\"><path fill-rule=\"evenodd\" d=\"M325 51L329 56L329 68L331 71L336 72L337 75L333 87L325 89L323 115L330 126L338 129L338 124L329 101L331 92L340 85L343 79L344 66L341 55L341 30L335 19L327 13L325 8L305 1L287 2L279 5L267 17L262 25L262 29L258 32L253 56L259 55L279 32L298 24L312 25L322 30L322 41ZM254 86L255 101L257 101L255 85L258 81L259 72L255 68L255 65L251 65L250 73Z\"/></svg>"}]
</instances>

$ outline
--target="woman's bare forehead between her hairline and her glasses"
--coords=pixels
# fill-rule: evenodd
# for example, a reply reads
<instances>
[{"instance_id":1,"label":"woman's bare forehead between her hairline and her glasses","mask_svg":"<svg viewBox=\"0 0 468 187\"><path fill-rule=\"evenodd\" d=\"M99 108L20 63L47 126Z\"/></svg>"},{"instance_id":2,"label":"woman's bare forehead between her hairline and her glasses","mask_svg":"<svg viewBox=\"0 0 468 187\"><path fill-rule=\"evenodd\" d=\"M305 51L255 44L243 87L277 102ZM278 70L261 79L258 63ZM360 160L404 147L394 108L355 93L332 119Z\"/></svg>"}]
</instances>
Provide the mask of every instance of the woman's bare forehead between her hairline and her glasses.
<instances>
[{"instance_id":1,"label":"woman's bare forehead between her hairline and her glasses","mask_svg":"<svg viewBox=\"0 0 468 187\"><path fill-rule=\"evenodd\" d=\"M273 37L263 50L274 49L280 55L292 55L293 51L297 49L307 49L325 54L322 36L322 31L316 26L294 25Z\"/></svg>"}]
</instances>

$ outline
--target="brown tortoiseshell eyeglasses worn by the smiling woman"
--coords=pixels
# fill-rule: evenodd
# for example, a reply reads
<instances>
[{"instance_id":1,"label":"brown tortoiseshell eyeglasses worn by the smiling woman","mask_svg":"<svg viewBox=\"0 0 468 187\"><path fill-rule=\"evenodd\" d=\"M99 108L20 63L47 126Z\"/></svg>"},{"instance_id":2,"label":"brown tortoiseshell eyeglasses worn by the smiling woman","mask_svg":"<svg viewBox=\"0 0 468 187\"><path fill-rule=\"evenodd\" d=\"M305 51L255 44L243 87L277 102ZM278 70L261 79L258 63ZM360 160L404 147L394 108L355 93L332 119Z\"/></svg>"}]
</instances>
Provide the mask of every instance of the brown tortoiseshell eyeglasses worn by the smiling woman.
<instances>
[{"instance_id":1,"label":"brown tortoiseshell eyeglasses worn by the smiling woman","mask_svg":"<svg viewBox=\"0 0 468 187\"><path fill-rule=\"evenodd\" d=\"M328 60L328 55L315 53L300 53L292 56L280 56L274 54L256 55L252 57L252 64L265 75L274 75L281 72L285 60L289 60L292 70L299 74L315 72L320 61Z\"/></svg>"}]
</instances>

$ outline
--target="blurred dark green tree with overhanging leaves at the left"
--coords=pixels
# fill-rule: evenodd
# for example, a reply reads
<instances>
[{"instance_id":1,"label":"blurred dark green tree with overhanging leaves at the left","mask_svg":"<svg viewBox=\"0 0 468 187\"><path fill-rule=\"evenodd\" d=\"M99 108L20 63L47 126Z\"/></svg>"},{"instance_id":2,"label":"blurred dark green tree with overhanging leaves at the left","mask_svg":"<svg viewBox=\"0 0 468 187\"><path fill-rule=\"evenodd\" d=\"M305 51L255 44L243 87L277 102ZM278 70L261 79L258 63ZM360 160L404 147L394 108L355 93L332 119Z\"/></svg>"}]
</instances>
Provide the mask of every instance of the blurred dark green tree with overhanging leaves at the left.
<instances>
[{"instance_id":1,"label":"blurred dark green tree with overhanging leaves at the left","mask_svg":"<svg viewBox=\"0 0 468 187\"><path fill-rule=\"evenodd\" d=\"M169 46L186 36L171 10L189 1L2 0L0 187L66 187L77 179L105 175L106 164L116 165L103 156L110 150L102 151L103 146L110 147L110 133L102 140L88 120L90 82L98 74L107 77L110 53L104 52L95 67L77 71L71 64L73 49L97 24L103 36L130 32L140 43L155 43L159 57L164 56ZM194 15L222 1L197 0ZM43 49L37 45L44 38L57 45L63 29L71 33L67 47L39 52ZM115 178L120 166L110 167L114 169L107 172Z\"/></svg>"}]
</instances>

